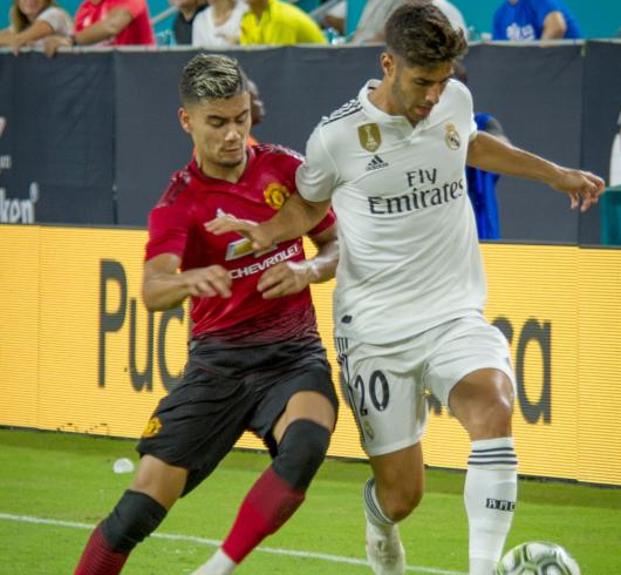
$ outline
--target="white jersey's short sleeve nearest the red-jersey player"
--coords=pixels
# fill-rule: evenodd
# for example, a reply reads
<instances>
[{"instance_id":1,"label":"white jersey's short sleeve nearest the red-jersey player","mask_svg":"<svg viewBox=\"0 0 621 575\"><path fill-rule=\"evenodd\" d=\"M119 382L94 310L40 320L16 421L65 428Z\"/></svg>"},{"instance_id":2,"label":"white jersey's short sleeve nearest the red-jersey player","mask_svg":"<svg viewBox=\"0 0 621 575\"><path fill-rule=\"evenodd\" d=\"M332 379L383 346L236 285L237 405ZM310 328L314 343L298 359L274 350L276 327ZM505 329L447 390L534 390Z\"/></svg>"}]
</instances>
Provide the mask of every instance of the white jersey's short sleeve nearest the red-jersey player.
<instances>
[{"instance_id":1,"label":"white jersey's short sleeve nearest the red-jersey player","mask_svg":"<svg viewBox=\"0 0 621 575\"><path fill-rule=\"evenodd\" d=\"M323 142L321 126L315 128L306 144L306 159L296 176L299 194L309 202L323 202L332 197L339 178L334 159Z\"/></svg>"}]
</instances>

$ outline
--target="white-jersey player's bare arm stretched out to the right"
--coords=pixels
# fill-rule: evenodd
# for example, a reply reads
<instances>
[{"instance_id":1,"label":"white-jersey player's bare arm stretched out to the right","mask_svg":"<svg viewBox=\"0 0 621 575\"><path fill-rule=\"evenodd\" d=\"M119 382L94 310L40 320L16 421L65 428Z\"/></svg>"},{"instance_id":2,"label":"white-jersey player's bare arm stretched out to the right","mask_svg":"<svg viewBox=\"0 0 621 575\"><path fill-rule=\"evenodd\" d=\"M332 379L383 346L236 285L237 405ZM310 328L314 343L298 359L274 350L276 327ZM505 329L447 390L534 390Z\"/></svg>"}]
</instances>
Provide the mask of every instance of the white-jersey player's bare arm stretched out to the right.
<instances>
[{"instance_id":1,"label":"white-jersey player's bare arm stretched out to the right","mask_svg":"<svg viewBox=\"0 0 621 575\"><path fill-rule=\"evenodd\" d=\"M604 192L604 180L591 172L559 166L526 150L478 132L468 146L466 163L488 172L535 180L569 195L571 208L585 212Z\"/></svg>"}]
</instances>

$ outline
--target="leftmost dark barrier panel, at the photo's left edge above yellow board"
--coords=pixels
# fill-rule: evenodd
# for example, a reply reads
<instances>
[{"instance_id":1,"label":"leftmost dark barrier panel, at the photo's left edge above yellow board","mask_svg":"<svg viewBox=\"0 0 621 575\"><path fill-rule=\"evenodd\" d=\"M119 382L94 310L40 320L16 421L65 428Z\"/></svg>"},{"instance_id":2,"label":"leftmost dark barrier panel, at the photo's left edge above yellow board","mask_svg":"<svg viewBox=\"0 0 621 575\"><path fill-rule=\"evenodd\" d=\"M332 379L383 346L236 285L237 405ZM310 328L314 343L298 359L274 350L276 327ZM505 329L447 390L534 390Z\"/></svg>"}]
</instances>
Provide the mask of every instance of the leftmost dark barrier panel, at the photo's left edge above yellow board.
<instances>
[{"instance_id":1,"label":"leftmost dark barrier panel, at the photo's left edge above yellow board","mask_svg":"<svg viewBox=\"0 0 621 575\"><path fill-rule=\"evenodd\" d=\"M30 52L0 61L13 68L6 116L0 103L8 132L0 145L4 151L10 138L12 164L5 198L34 200L37 222L113 224L111 54L50 60Z\"/></svg>"}]
</instances>

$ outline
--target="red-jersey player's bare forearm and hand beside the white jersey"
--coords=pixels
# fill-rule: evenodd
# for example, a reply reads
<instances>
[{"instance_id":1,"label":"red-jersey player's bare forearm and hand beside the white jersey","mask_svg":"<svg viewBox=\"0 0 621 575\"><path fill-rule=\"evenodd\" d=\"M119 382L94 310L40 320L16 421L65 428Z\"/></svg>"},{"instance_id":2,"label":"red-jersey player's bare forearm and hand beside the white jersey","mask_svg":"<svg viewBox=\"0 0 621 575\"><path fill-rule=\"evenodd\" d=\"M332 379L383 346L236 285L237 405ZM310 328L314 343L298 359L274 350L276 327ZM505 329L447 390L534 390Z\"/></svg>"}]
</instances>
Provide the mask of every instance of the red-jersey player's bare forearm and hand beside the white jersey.
<instances>
[{"instance_id":1,"label":"red-jersey player's bare forearm and hand beside the white jersey","mask_svg":"<svg viewBox=\"0 0 621 575\"><path fill-rule=\"evenodd\" d=\"M265 299L298 293L312 283L334 277L339 259L336 226L309 236L317 247L314 258L302 262L281 262L269 268L259 279L257 289Z\"/></svg>"}]
</instances>

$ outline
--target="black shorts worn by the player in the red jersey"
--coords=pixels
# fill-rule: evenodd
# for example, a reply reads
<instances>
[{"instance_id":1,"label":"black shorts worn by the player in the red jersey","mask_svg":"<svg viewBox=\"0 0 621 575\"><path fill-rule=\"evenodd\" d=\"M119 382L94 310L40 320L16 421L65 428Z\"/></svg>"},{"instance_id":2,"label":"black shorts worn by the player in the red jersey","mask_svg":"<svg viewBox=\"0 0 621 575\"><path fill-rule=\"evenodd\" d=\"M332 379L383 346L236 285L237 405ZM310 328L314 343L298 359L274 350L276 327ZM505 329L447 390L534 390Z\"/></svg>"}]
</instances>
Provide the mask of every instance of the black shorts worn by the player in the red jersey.
<instances>
[{"instance_id":1,"label":"black shorts worn by the player in the red jersey","mask_svg":"<svg viewBox=\"0 0 621 575\"><path fill-rule=\"evenodd\" d=\"M160 401L136 449L188 469L185 495L246 430L273 456L272 428L299 391L321 393L336 412L330 364L316 338L251 348L195 341L181 383Z\"/></svg>"}]
</instances>

